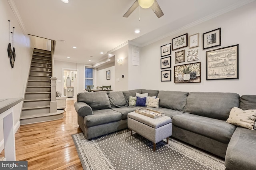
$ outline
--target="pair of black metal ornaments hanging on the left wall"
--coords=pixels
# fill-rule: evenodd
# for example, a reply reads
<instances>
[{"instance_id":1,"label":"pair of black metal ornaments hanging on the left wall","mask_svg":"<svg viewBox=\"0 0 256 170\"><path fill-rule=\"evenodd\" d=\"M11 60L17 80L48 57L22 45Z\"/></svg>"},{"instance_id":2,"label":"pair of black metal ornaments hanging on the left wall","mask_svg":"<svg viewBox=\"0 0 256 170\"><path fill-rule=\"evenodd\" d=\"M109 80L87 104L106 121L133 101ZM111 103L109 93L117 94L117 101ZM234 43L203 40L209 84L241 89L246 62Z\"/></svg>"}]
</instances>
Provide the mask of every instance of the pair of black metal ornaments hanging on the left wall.
<instances>
[{"instance_id":1,"label":"pair of black metal ornaments hanging on the left wall","mask_svg":"<svg viewBox=\"0 0 256 170\"><path fill-rule=\"evenodd\" d=\"M11 32L11 21L9 21L9 38L10 38L10 41L9 41L9 44L8 44L8 47L7 47L7 52L8 52L8 57L10 59L10 64L11 64L11 67L13 68L14 67L14 61L15 61L15 58L16 58L16 53L15 53L15 48L14 48L14 27L13 27L13 33ZM11 44L11 35L12 35L12 44ZM12 49L12 46L13 46L13 49Z\"/></svg>"}]
</instances>

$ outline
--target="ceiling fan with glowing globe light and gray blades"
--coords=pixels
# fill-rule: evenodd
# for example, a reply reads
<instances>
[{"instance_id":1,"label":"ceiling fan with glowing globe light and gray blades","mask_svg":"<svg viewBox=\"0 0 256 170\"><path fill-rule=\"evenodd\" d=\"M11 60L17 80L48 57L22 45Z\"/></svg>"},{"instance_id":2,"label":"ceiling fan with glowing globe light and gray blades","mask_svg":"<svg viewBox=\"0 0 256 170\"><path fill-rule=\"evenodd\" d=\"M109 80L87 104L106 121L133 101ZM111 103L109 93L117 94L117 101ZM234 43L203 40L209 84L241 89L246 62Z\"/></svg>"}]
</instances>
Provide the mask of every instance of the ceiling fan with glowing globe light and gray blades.
<instances>
[{"instance_id":1,"label":"ceiling fan with glowing globe light and gray blades","mask_svg":"<svg viewBox=\"0 0 256 170\"><path fill-rule=\"evenodd\" d=\"M127 18L130 16L138 6L141 8L151 8L158 18L164 15L156 0L136 0L123 17Z\"/></svg>"}]
</instances>

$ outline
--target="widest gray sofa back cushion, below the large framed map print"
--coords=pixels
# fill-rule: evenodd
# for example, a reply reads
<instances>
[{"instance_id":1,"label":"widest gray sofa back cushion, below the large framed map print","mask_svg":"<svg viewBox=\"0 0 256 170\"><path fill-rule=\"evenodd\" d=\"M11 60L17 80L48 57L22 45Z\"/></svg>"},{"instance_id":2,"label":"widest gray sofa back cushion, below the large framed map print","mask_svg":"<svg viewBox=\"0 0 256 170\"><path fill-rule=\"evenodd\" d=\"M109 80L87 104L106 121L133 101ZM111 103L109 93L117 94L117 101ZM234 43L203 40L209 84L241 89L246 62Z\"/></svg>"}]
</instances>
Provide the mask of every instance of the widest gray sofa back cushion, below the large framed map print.
<instances>
[{"instance_id":1,"label":"widest gray sofa back cushion, below the large framed map print","mask_svg":"<svg viewBox=\"0 0 256 170\"><path fill-rule=\"evenodd\" d=\"M231 109L239 106L239 98L236 93L190 92L186 113L226 121Z\"/></svg>"}]
</instances>

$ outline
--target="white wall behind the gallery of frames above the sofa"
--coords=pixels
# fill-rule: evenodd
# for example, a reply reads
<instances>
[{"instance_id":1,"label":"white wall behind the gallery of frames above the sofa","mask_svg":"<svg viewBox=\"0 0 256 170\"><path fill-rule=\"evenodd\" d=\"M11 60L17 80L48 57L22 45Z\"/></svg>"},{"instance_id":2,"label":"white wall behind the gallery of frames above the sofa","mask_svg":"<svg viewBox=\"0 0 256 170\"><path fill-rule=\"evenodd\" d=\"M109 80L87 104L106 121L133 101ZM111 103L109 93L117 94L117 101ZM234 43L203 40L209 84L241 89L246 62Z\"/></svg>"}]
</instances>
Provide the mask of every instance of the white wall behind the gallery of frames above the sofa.
<instances>
[{"instance_id":1,"label":"white wall behind the gallery of frames above the sofa","mask_svg":"<svg viewBox=\"0 0 256 170\"><path fill-rule=\"evenodd\" d=\"M159 89L172 91L210 91L234 92L239 95L256 95L255 85L255 40L256 40L256 2L203 22L177 34L164 38L158 42L146 45L140 49L141 79L143 89ZM202 34L216 28L221 28L221 46L202 49ZM160 46L170 43L172 38L188 33L188 36L200 33L199 57L195 61L201 62L201 83L174 83L174 55L176 51L189 49L188 47L172 51L171 75L172 81L160 81ZM239 79L206 81L206 51L239 44ZM193 63L193 62L192 62Z\"/></svg>"}]
</instances>

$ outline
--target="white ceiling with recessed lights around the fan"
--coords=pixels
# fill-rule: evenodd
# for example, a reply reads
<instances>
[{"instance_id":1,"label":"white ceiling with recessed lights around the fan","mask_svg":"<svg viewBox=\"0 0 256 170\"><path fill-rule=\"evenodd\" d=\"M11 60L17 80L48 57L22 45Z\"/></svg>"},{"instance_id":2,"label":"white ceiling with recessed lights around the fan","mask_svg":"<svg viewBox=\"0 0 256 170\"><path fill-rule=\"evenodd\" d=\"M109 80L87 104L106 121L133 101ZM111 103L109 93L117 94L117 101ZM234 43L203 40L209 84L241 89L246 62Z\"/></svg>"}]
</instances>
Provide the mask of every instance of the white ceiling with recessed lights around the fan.
<instances>
[{"instance_id":1,"label":"white ceiling with recessed lights around the fan","mask_svg":"<svg viewBox=\"0 0 256 170\"><path fill-rule=\"evenodd\" d=\"M144 46L254 0L157 0L164 12L159 19L150 8L137 8L128 18L122 17L135 0L69 0L68 4L61 0L12 1L27 34L57 41L55 59L92 65L128 40ZM135 34L136 29L141 32Z\"/></svg>"}]
</instances>

